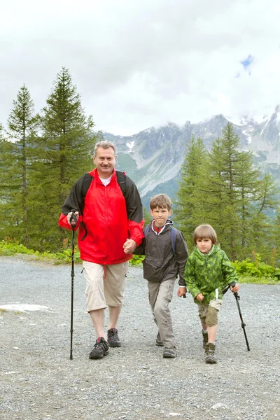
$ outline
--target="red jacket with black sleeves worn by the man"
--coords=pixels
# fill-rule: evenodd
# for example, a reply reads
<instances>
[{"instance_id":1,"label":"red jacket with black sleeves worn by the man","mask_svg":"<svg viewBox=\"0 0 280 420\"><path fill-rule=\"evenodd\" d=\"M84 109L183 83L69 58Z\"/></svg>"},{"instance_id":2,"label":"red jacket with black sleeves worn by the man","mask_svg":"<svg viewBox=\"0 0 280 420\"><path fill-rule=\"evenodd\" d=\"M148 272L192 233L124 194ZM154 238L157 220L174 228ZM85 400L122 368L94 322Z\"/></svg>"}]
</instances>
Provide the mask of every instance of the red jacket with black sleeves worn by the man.
<instances>
[{"instance_id":1,"label":"red jacket with black sleeves worn by the man","mask_svg":"<svg viewBox=\"0 0 280 420\"><path fill-rule=\"evenodd\" d=\"M76 229L80 258L101 265L118 264L132 258L125 254L123 244L130 238L141 244L144 217L137 187L126 177L126 201L117 181L116 172L104 186L97 169L90 172L92 182L85 195L83 215L80 214L81 186L79 179L66 199L59 218L59 226L71 230L66 215L72 210L79 211Z\"/></svg>"}]
</instances>

